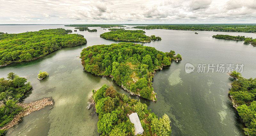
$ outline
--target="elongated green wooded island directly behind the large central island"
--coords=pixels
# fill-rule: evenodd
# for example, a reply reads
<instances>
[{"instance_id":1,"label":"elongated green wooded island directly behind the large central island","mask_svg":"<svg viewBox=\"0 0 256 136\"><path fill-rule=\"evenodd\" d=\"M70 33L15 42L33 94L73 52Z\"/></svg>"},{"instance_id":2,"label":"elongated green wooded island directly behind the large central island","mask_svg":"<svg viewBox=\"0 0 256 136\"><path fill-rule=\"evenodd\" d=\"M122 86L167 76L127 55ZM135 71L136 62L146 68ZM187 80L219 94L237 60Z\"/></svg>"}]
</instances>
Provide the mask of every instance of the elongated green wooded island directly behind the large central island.
<instances>
[{"instance_id":1,"label":"elongated green wooded island directly behind the large central island","mask_svg":"<svg viewBox=\"0 0 256 136\"><path fill-rule=\"evenodd\" d=\"M150 37L145 35L145 31L142 30L117 30L111 29L111 32L100 34L100 37L105 39L111 39L115 41L129 41L129 42L151 42L151 40L162 40L161 37L151 35Z\"/></svg>"}]
</instances>

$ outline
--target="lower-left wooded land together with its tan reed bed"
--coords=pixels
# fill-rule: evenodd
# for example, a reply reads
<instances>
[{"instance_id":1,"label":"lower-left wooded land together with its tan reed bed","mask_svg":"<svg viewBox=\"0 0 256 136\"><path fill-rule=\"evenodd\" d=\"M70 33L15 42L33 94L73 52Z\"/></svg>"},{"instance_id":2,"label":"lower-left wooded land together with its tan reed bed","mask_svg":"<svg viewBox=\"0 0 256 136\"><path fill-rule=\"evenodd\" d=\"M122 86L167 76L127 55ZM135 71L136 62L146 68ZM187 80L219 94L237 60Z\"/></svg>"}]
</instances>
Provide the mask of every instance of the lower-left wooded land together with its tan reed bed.
<instances>
[{"instance_id":1,"label":"lower-left wooded land together with its tan reed bed","mask_svg":"<svg viewBox=\"0 0 256 136\"><path fill-rule=\"evenodd\" d=\"M18 103L24 94L32 88L30 82L25 84L26 82L27 79L19 77L13 72L8 74L7 79L0 78L0 135L4 134L5 130L18 124L21 117L53 104L49 98L32 104Z\"/></svg>"}]
</instances>

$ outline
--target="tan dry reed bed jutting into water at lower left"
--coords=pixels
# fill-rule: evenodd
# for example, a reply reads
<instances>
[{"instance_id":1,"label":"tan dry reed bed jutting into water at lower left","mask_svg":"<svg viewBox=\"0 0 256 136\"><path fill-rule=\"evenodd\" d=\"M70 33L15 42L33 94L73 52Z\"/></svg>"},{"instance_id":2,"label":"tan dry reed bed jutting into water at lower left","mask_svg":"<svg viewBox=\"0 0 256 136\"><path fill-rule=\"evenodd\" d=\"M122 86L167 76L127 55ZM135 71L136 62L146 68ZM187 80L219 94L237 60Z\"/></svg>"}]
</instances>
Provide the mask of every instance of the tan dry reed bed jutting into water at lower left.
<instances>
[{"instance_id":1,"label":"tan dry reed bed jutting into water at lower left","mask_svg":"<svg viewBox=\"0 0 256 136\"><path fill-rule=\"evenodd\" d=\"M30 103L17 103L19 106L24 108L25 110L21 111L19 114L14 116L11 122L4 125L4 127L1 128L1 130L7 130L11 127L19 124L22 117L25 117L29 115L31 112L41 110L45 108L46 106L53 105L53 100L51 97L49 98L43 98L42 100L36 101L36 102L30 102ZM50 108L52 109L52 107Z\"/></svg>"}]
</instances>

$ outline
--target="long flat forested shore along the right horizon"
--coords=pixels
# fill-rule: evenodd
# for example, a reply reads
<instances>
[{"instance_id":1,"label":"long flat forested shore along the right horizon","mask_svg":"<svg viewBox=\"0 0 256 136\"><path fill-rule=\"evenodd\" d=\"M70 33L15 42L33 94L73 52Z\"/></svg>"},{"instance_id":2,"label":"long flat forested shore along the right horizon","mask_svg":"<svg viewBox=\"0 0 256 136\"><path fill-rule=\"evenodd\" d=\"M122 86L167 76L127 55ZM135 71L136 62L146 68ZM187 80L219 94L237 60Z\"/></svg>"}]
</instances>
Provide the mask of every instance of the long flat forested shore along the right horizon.
<instances>
[{"instance_id":1,"label":"long flat forested shore along the right horizon","mask_svg":"<svg viewBox=\"0 0 256 136\"><path fill-rule=\"evenodd\" d=\"M255 24L149 24L133 28L256 33Z\"/></svg>"}]
</instances>

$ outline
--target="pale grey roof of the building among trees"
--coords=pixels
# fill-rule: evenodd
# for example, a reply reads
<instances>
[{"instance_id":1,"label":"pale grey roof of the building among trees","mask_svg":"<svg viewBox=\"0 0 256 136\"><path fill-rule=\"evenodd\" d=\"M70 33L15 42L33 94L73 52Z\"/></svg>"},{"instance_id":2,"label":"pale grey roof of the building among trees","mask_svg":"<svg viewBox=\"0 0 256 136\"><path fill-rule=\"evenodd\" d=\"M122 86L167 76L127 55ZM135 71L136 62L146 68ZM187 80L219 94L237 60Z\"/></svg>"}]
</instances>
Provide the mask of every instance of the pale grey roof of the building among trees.
<instances>
[{"instance_id":1,"label":"pale grey roof of the building among trees","mask_svg":"<svg viewBox=\"0 0 256 136\"><path fill-rule=\"evenodd\" d=\"M140 119L139 119L137 112L130 114L129 118L130 118L130 121L134 124L134 129L135 129L134 135L142 134L144 132L144 130L140 124Z\"/></svg>"}]
</instances>

